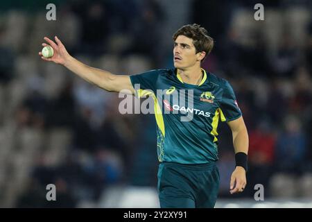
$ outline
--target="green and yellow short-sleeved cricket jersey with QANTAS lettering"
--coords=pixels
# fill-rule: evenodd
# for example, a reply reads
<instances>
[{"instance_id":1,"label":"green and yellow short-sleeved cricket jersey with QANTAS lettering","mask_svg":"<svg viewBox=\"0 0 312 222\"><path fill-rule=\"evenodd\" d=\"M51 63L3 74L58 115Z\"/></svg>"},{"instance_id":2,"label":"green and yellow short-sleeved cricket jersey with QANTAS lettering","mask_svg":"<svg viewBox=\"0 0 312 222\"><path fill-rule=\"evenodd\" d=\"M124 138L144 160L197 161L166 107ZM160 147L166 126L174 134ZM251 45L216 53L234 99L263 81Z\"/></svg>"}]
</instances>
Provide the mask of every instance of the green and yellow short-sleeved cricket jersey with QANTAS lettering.
<instances>
[{"instance_id":1,"label":"green and yellow short-sleeved cricket jersey with QANTAS lettering","mask_svg":"<svg viewBox=\"0 0 312 222\"><path fill-rule=\"evenodd\" d=\"M218 160L219 119L241 117L227 80L204 69L202 74L199 85L183 83L177 69L130 76L137 97L153 96L159 162L205 164Z\"/></svg>"}]
</instances>

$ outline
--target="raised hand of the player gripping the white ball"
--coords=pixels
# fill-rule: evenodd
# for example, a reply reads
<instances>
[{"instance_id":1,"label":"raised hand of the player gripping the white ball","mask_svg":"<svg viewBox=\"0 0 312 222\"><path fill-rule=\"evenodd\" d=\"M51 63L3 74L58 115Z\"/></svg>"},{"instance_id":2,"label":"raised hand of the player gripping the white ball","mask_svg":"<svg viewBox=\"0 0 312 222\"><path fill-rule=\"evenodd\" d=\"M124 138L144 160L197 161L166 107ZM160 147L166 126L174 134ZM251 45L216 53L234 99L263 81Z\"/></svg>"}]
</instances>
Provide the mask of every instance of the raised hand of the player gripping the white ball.
<instances>
[{"instance_id":1,"label":"raised hand of the player gripping the white ball","mask_svg":"<svg viewBox=\"0 0 312 222\"><path fill-rule=\"evenodd\" d=\"M55 42L50 40L49 37L44 37L44 40L46 40L46 42L49 44L42 43L42 46L51 46L53 48L53 56L51 58L44 58L41 52L39 52L39 56L41 56L42 60L64 65L67 58L69 58L69 53L65 49L65 46L62 44L62 42L58 39L58 37L55 36L54 38L56 44Z\"/></svg>"}]
</instances>

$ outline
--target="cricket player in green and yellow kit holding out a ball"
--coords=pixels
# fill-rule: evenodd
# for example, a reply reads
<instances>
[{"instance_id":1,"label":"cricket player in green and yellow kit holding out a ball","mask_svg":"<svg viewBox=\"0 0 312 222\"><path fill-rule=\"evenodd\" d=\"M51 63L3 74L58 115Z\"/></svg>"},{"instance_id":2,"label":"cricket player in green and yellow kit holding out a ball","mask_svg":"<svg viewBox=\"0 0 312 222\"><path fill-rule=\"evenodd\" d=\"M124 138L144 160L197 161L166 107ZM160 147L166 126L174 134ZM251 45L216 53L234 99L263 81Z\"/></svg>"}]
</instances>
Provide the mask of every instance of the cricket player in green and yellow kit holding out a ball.
<instances>
[{"instance_id":1,"label":"cricket player in green and yellow kit holding out a ball","mask_svg":"<svg viewBox=\"0 0 312 222\"><path fill-rule=\"evenodd\" d=\"M214 46L205 28L189 24L173 35L174 69L132 76L114 75L79 62L56 36L56 44L47 37L44 40L53 47L54 55L42 60L64 65L110 92L123 90L138 97L153 96L161 207L214 207L219 186L216 167L219 119L227 121L233 136L236 167L229 191L231 194L243 191L248 133L231 85L200 67Z\"/></svg>"}]
</instances>

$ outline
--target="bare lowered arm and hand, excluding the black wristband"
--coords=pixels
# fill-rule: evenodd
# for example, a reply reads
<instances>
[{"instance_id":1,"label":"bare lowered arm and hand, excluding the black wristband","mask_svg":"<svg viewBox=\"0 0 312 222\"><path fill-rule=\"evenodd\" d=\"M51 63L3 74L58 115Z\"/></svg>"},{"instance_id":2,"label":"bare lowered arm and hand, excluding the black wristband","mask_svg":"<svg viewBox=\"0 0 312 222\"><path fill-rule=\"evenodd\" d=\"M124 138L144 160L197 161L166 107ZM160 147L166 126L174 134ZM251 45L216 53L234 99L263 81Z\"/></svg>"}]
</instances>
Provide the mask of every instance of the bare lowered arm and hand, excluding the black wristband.
<instances>
[{"instance_id":1,"label":"bare lowered arm and hand, excluding the black wristband","mask_svg":"<svg viewBox=\"0 0 312 222\"><path fill-rule=\"evenodd\" d=\"M248 154L248 133L243 117L227 122L232 130L233 146L236 153ZM236 166L231 176L230 193L242 192L246 185L246 171L243 167Z\"/></svg>"}]
</instances>

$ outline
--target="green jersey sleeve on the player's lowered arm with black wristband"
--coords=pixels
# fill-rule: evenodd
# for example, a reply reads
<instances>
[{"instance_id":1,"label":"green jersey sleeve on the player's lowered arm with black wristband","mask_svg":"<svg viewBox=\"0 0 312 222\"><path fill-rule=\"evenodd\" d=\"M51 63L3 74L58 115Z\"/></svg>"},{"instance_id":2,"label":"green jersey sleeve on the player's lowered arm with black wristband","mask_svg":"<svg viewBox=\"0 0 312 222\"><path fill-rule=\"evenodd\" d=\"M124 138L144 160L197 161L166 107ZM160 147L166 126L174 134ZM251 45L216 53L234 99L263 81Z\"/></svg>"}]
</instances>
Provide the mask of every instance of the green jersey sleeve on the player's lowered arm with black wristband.
<instances>
[{"instance_id":1,"label":"green jersey sleeve on the player's lowered arm with black wristband","mask_svg":"<svg viewBox=\"0 0 312 222\"><path fill-rule=\"evenodd\" d=\"M232 86L226 81L220 101L221 120L232 121L241 117L241 109L236 101Z\"/></svg>"}]
</instances>

